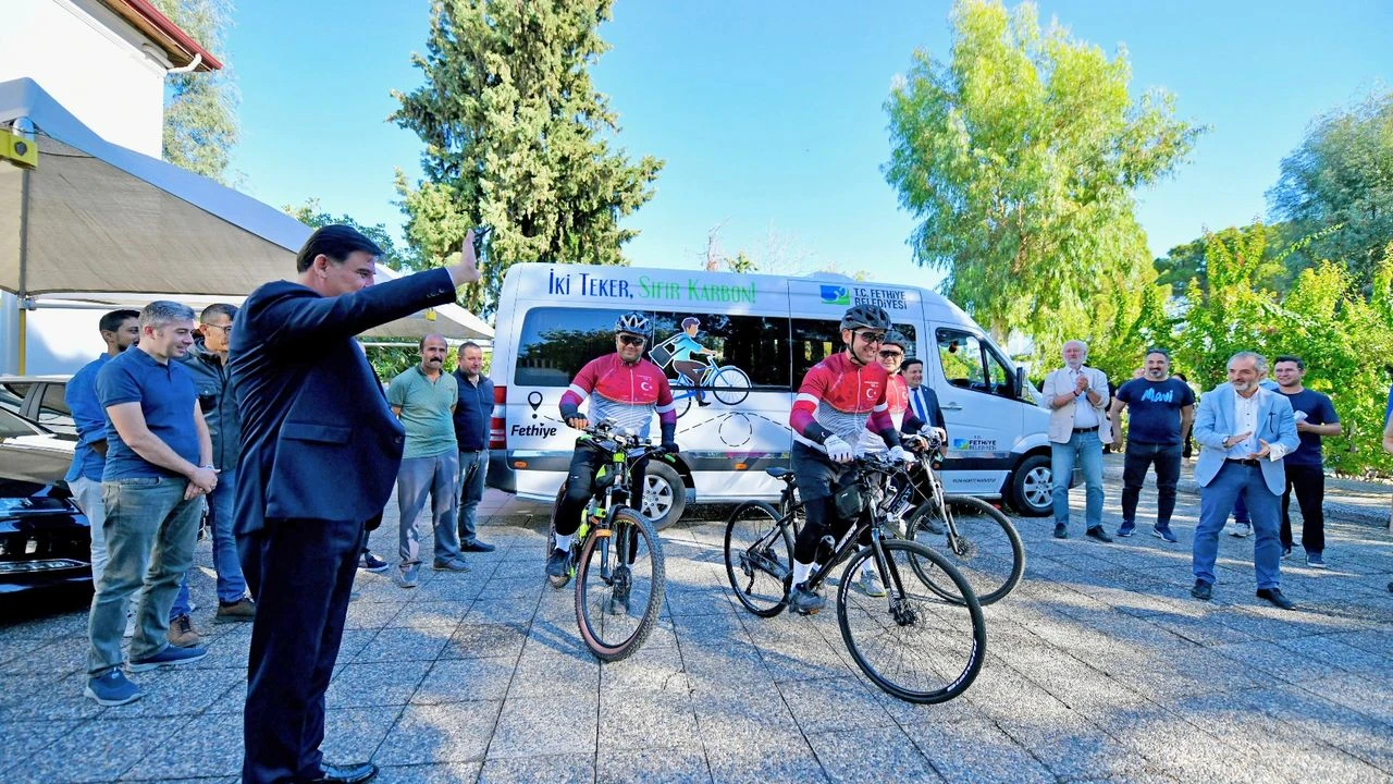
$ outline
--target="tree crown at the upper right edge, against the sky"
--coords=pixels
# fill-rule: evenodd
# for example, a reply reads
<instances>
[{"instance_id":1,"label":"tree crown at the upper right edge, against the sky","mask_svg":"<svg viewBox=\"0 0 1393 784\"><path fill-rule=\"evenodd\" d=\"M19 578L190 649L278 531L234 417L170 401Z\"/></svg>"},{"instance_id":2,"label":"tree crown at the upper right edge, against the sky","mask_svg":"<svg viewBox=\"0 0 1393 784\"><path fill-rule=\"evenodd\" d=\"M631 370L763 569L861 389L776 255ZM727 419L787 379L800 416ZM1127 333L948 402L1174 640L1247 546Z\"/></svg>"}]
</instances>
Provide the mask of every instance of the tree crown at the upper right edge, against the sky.
<instances>
[{"instance_id":1,"label":"tree crown at the upper right edge, against the sky","mask_svg":"<svg viewBox=\"0 0 1393 784\"><path fill-rule=\"evenodd\" d=\"M1268 199L1295 236L1319 234L1302 251L1308 259L1341 264L1369 294L1393 241L1393 92L1312 123Z\"/></svg>"}]
</instances>

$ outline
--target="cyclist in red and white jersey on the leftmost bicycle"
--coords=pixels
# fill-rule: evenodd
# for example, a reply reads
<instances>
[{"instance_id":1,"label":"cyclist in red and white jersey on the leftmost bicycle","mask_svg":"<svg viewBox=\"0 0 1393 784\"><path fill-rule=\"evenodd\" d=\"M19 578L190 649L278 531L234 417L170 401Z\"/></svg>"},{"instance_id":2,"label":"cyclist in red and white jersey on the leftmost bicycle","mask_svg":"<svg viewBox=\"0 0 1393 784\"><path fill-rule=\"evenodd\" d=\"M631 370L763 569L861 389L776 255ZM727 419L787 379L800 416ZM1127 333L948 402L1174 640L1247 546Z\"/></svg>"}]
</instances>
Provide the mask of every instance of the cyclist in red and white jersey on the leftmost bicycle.
<instances>
[{"instance_id":1,"label":"cyclist in red and white jersey on the leftmost bicycle","mask_svg":"<svg viewBox=\"0 0 1393 784\"><path fill-rule=\"evenodd\" d=\"M657 412L663 449L676 453L677 409L673 406L673 389L662 368L644 359L648 333L649 324L644 314L635 311L618 317L614 322L614 353L591 360L575 374L571 388L561 395L561 419L577 430L595 420L646 435L653 412ZM588 416L579 412L586 398L591 400ZM575 442L566 495L556 506L556 550L546 559L546 573L553 578L566 573L571 537L581 526L585 504L595 494L595 472L606 459L607 455L588 441ZM634 483L630 498L635 505L644 498L646 467L648 460L639 460L631 469Z\"/></svg>"}]
</instances>

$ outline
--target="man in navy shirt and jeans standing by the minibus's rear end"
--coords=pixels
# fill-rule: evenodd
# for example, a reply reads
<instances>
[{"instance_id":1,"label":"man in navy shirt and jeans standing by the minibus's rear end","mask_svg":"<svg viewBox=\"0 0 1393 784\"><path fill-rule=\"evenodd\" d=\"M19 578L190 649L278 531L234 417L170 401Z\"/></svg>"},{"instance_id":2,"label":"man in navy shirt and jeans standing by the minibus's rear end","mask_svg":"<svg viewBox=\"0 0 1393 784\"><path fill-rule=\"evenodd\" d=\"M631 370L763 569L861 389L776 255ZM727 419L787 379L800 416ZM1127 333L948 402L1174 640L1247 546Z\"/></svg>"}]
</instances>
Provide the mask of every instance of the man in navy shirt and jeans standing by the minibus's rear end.
<instances>
[{"instance_id":1,"label":"man in navy shirt and jeans standing by the minibus's rear end","mask_svg":"<svg viewBox=\"0 0 1393 784\"><path fill-rule=\"evenodd\" d=\"M454 379L460 402L454 406L454 439L460 446L460 550L492 552L479 541L478 513L483 501L483 480L489 473L489 420L493 417L493 382L483 375L483 349L478 343L460 346Z\"/></svg>"}]
</instances>

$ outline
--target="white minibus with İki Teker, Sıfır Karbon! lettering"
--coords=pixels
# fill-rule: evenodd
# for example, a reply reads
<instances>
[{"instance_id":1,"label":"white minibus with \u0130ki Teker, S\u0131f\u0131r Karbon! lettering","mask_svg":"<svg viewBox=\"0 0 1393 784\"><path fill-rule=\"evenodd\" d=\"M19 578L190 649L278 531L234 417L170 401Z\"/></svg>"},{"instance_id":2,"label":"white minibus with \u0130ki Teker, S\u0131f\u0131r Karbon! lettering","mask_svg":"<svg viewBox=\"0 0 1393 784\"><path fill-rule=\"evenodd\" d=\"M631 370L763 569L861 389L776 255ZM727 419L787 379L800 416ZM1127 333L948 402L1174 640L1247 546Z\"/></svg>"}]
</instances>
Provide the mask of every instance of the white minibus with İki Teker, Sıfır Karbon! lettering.
<instances>
[{"instance_id":1,"label":"white minibus with \u0130ki Teker, S\u0131f\u0131r Karbon! lettering","mask_svg":"<svg viewBox=\"0 0 1393 784\"><path fill-rule=\"evenodd\" d=\"M788 465L794 392L808 368L841 350L839 319L858 303L889 311L910 356L924 360L924 384L947 420L949 492L1049 513L1049 414L1021 368L940 294L826 275L508 268L490 371L489 485L556 497L577 435L561 421L561 393L585 363L614 350L614 319L637 310L655 325L646 356L673 384L681 445L674 465L651 463L644 513L663 526L692 501L775 499L781 484L765 469Z\"/></svg>"}]
</instances>

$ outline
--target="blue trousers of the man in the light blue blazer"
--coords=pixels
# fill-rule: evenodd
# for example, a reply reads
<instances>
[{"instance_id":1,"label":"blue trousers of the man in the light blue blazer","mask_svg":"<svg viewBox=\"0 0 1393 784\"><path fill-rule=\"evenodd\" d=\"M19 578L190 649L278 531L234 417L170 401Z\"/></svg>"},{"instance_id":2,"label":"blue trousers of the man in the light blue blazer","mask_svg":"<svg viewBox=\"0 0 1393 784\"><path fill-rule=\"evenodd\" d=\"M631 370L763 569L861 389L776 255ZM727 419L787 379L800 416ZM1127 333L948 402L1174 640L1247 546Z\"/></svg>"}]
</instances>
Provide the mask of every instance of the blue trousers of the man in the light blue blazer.
<instances>
[{"instance_id":1,"label":"blue trousers of the man in the light blue blazer","mask_svg":"<svg viewBox=\"0 0 1393 784\"><path fill-rule=\"evenodd\" d=\"M1252 516L1252 568L1258 589L1282 583L1282 497L1268 488L1262 469L1233 460L1224 465L1199 490L1199 526L1195 527L1194 572L1197 580L1215 582L1215 558L1219 555L1219 532L1223 530L1236 499L1248 504Z\"/></svg>"}]
</instances>

